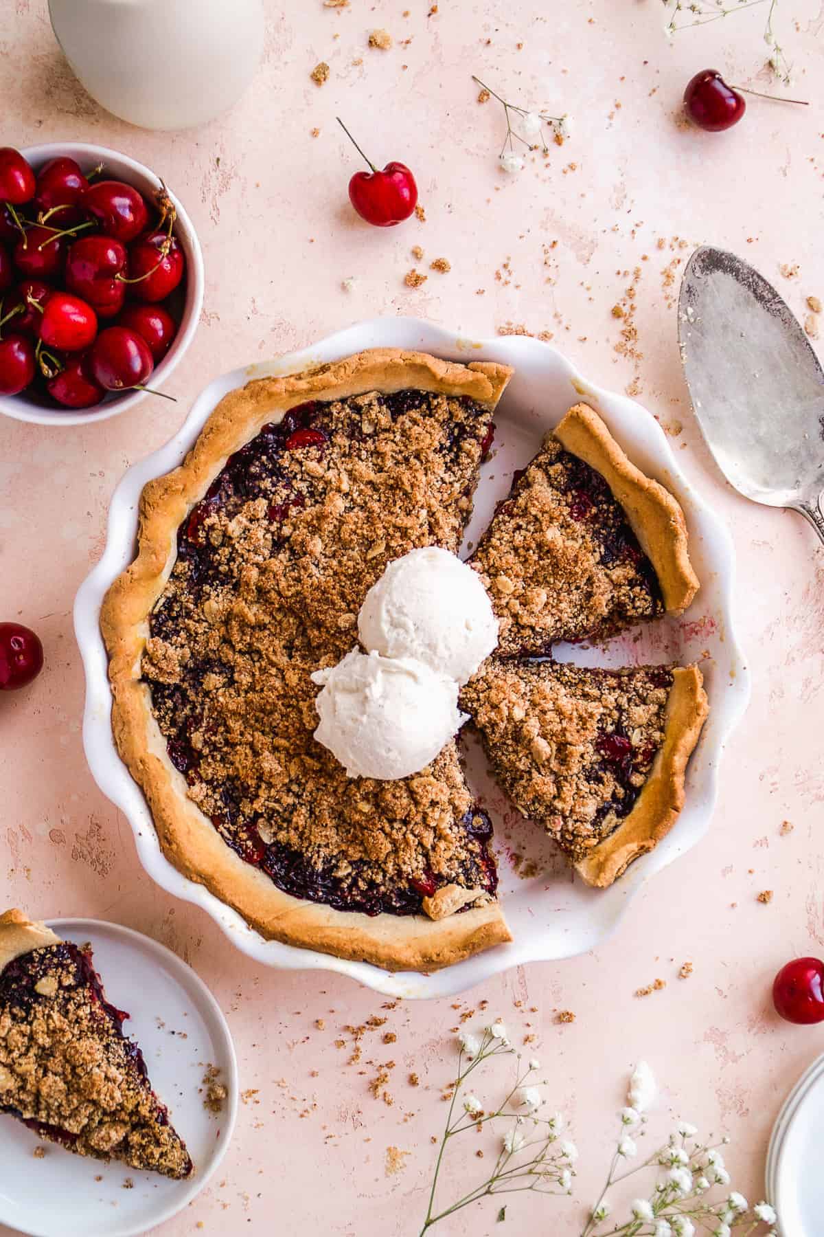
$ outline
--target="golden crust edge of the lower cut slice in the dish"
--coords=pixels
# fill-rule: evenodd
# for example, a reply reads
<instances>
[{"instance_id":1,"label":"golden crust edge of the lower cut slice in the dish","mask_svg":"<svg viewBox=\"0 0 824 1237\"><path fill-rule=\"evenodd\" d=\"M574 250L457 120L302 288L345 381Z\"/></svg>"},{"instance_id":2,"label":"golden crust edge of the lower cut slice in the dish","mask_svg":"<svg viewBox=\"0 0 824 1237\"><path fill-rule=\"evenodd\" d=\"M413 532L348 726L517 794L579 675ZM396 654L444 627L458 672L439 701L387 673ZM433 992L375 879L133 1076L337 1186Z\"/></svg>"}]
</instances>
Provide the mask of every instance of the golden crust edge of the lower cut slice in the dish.
<instances>
[{"instance_id":1,"label":"golden crust edge of the lower cut slice in the dish","mask_svg":"<svg viewBox=\"0 0 824 1237\"><path fill-rule=\"evenodd\" d=\"M654 850L683 808L687 762L700 736L709 704L697 666L676 667L672 675L663 743L635 807L618 829L574 865L587 884L599 889L605 889L634 860Z\"/></svg>"}]
</instances>

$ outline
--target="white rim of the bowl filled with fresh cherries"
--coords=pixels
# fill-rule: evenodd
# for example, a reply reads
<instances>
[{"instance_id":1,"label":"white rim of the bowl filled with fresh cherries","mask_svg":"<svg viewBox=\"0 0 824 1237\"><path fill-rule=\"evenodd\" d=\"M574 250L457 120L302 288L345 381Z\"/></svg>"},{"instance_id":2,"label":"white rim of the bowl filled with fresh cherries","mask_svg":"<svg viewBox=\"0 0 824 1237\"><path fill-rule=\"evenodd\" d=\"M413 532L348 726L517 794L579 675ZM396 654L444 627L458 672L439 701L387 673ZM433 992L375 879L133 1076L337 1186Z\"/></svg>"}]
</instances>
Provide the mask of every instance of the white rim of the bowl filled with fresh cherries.
<instances>
[{"instance_id":1,"label":"white rim of the bowl filled with fresh cherries","mask_svg":"<svg viewBox=\"0 0 824 1237\"><path fill-rule=\"evenodd\" d=\"M152 172L149 167L146 167L138 160L132 158L131 155L111 150L109 146L95 146L93 142L41 142L37 146L23 147L20 153L32 163L44 163L51 158L61 156L68 158L77 158L78 156L84 158L88 156L95 162L104 163L116 161L127 167L130 172L145 177L154 189L159 189L163 184L156 172ZM191 299L191 309L188 317L184 312L180 320L183 329L174 336L172 348L152 374L152 379L157 375L161 382L170 377L194 339L200 323L205 287L203 250L200 249L198 233L180 199L168 186L166 188L178 213L178 239L184 244L187 250L187 299ZM68 408L62 412L58 408L30 404L23 400L17 401L17 396L0 396L0 414L10 417L12 421L23 421L36 426L86 426L98 421L110 421L111 417L117 417L121 412L127 412L140 403L141 400L146 398L147 395L147 391L132 391L130 395L124 395L107 403L98 404L95 408L74 412Z\"/></svg>"}]
</instances>

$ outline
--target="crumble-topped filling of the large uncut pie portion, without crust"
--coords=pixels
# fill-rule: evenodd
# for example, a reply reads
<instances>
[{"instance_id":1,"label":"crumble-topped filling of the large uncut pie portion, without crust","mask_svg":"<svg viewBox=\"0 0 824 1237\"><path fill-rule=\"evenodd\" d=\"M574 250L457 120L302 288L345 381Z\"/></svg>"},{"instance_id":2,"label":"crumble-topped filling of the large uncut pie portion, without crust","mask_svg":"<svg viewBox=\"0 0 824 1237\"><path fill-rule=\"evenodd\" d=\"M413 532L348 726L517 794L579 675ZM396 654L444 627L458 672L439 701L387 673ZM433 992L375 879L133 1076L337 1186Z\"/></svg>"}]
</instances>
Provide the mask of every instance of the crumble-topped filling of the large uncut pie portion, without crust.
<instances>
[{"instance_id":1,"label":"crumble-topped filling of the large uncut pie portion, without crust","mask_svg":"<svg viewBox=\"0 0 824 1237\"><path fill-rule=\"evenodd\" d=\"M441 887L494 892L455 743L403 781L350 779L313 737L310 678L357 641L390 560L458 549L490 416L411 390L303 404L180 526L142 663L152 709L188 795L296 897L408 914L440 909Z\"/></svg>"}]
</instances>

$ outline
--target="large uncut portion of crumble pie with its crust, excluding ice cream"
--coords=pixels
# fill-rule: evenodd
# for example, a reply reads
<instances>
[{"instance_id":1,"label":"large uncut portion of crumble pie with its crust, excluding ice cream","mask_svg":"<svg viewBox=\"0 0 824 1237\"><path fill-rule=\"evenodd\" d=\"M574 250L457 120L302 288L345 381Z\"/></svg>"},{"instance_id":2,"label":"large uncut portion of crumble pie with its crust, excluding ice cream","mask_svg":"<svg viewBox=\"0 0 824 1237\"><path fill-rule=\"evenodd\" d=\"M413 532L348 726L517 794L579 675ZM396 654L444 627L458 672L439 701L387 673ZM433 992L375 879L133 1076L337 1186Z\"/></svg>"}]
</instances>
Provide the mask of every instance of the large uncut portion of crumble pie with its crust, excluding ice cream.
<instances>
[{"instance_id":1,"label":"large uncut portion of crumble pie with its crust, excluding ice cream","mask_svg":"<svg viewBox=\"0 0 824 1237\"><path fill-rule=\"evenodd\" d=\"M509 376L378 349L250 382L143 491L101 614L115 737L168 858L264 936L418 970L509 939L455 745L350 779L311 682L392 559L457 550Z\"/></svg>"}]
</instances>

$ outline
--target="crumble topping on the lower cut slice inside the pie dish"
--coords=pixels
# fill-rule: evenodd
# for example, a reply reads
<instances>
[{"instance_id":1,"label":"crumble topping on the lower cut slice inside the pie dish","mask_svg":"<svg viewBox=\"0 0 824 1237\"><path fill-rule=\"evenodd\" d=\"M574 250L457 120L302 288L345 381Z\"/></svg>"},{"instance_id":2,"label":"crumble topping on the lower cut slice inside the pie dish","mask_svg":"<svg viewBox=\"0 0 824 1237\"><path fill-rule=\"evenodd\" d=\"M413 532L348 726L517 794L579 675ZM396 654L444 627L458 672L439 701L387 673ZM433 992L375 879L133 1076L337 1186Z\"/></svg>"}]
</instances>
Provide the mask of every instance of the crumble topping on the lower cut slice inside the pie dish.
<instances>
[{"instance_id":1,"label":"crumble topping on the lower cut slice inside the pie dish","mask_svg":"<svg viewBox=\"0 0 824 1237\"><path fill-rule=\"evenodd\" d=\"M631 810L663 741L671 685L667 667L490 657L460 704L518 810L578 861Z\"/></svg>"}]
</instances>

